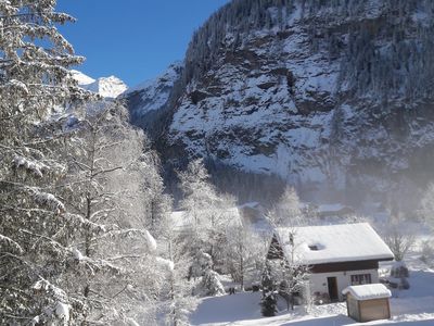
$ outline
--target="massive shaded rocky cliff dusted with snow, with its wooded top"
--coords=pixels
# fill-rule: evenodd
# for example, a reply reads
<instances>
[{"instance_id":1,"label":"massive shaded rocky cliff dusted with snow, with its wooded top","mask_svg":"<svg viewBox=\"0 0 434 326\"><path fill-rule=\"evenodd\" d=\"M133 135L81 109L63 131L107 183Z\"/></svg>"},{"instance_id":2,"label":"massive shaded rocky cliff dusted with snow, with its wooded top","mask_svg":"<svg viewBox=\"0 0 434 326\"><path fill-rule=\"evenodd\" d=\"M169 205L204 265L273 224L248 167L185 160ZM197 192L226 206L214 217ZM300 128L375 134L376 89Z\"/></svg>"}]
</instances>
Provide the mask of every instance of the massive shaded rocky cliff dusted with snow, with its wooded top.
<instances>
[{"instance_id":1,"label":"massive shaded rocky cliff dusted with snow, with its wooded top","mask_svg":"<svg viewBox=\"0 0 434 326\"><path fill-rule=\"evenodd\" d=\"M167 152L277 174L301 191L423 187L433 12L423 0L232 1L193 37L166 110Z\"/></svg>"}]
</instances>

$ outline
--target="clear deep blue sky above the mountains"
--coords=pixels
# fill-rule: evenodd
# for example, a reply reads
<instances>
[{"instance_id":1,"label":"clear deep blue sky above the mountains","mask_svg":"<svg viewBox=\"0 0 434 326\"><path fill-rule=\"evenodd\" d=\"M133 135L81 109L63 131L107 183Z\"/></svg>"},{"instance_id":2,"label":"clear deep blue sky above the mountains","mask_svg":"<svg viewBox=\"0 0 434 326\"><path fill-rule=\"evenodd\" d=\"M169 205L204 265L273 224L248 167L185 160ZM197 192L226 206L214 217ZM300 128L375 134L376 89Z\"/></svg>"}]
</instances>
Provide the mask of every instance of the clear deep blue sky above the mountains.
<instances>
[{"instance_id":1,"label":"clear deep blue sky above the mountains","mask_svg":"<svg viewBox=\"0 0 434 326\"><path fill-rule=\"evenodd\" d=\"M97 78L115 75L128 86L159 75L182 60L193 32L229 0L58 0L75 16L60 29L77 54L78 67Z\"/></svg>"}]
</instances>

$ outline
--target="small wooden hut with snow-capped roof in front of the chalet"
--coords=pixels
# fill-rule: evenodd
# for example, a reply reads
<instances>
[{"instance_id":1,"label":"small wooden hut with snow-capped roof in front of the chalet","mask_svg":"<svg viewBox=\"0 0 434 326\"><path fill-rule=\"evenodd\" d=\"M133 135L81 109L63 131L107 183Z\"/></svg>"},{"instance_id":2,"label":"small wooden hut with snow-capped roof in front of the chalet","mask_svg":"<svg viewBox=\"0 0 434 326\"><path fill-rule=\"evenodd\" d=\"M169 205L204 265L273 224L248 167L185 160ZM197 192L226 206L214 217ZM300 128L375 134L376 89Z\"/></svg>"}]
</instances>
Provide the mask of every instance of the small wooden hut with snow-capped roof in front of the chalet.
<instances>
[{"instance_id":1,"label":"small wooden hut with snow-capped roof in front of the chalet","mask_svg":"<svg viewBox=\"0 0 434 326\"><path fill-rule=\"evenodd\" d=\"M359 323L388 319L391 291L382 284L349 286L342 291L346 296L348 316Z\"/></svg>"}]
</instances>

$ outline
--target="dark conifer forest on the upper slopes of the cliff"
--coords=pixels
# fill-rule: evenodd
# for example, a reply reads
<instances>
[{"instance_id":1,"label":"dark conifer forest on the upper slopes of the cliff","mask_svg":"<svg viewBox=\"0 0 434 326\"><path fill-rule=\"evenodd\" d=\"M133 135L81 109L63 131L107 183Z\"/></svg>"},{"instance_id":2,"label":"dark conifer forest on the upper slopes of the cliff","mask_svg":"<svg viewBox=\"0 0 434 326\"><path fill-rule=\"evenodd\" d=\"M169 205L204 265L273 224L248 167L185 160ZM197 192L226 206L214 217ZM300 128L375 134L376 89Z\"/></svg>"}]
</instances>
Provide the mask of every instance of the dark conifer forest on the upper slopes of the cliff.
<instances>
[{"instance_id":1,"label":"dark conifer forest on the upper slopes of the cliff","mask_svg":"<svg viewBox=\"0 0 434 326\"><path fill-rule=\"evenodd\" d=\"M343 55L341 83L362 96L375 93L386 100L393 96L412 99L432 97L429 80L433 78L434 49L431 37L434 25L414 22L417 38L406 37L409 20L416 12L432 12L432 1L381 1L387 15L376 20L360 20L369 2L350 0L235 0L231 1L193 35L186 55L182 83L186 87L218 63L225 51L243 49L255 32L291 27L291 14L301 8L304 32L309 35L314 52L324 51L331 59ZM318 14L321 12L321 14ZM337 16L337 17L336 17ZM346 22L344 22L346 21ZM350 23L348 23L350 22ZM345 34L347 34L345 36ZM347 40L344 40L347 37ZM381 49L375 42L384 38L391 47ZM284 38L282 38L284 41ZM219 63L218 63L219 64ZM218 65L217 65L218 66ZM403 76L409 75L408 78ZM404 83L404 84L403 84Z\"/></svg>"}]
</instances>

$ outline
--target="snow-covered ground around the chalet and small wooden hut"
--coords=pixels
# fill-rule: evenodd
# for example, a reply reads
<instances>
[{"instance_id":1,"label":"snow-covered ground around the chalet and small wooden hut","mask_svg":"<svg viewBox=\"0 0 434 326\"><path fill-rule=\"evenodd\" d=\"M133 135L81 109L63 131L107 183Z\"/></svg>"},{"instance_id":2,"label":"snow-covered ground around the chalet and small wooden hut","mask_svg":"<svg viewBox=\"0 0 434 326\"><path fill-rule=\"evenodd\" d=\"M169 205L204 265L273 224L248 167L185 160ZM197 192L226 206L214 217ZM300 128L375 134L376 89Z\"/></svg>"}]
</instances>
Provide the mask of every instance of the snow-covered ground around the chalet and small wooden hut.
<instances>
[{"instance_id":1,"label":"snow-covered ground around the chalet and small wooden hut","mask_svg":"<svg viewBox=\"0 0 434 326\"><path fill-rule=\"evenodd\" d=\"M391 299L392 318L360 325L434 325L434 269L411 253L406 263L410 269L410 289L393 290ZM386 273L392 263L384 263L380 272ZM339 326L358 325L347 317L344 302L312 306L308 314L296 308L294 312L283 311L275 317L261 317L260 292L240 292L202 299L191 315L192 325L296 325L296 326Z\"/></svg>"}]
</instances>

